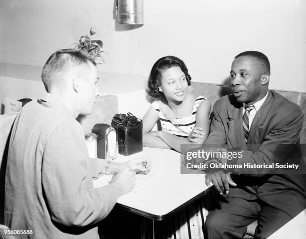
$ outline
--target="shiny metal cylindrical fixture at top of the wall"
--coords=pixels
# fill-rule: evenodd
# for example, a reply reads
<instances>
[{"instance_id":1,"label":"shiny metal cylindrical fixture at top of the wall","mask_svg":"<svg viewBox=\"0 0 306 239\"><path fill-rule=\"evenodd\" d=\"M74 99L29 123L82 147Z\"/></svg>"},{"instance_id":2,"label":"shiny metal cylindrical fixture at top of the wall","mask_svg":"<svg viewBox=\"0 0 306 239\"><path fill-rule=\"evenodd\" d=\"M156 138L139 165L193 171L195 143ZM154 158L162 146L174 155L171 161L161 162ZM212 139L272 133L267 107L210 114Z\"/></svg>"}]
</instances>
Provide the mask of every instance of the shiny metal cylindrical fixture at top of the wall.
<instances>
[{"instance_id":1,"label":"shiny metal cylindrical fixture at top of the wall","mask_svg":"<svg viewBox=\"0 0 306 239\"><path fill-rule=\"evenodd\" d=\"M116 13L119 24L143 24L143 0L117 0Z\"/></svg>"}]
</instances>

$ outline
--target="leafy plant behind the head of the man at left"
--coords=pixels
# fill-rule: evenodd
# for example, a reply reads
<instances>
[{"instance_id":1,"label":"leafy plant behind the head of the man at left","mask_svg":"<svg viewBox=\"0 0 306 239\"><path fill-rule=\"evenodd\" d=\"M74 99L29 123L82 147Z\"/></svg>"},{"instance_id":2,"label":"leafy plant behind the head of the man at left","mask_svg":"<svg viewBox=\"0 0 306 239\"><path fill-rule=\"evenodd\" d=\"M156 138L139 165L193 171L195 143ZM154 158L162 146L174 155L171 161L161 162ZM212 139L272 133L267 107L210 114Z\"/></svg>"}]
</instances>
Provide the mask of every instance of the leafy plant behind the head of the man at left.
<instances>
[{"instance_id":1,"label":"leafy plant behind the head of the man at left","mask_svg":"<svg viewBox=\"0 0 306 239\"><path fill-rule=\"evenodd\" d=\"M105 62L105 58L102 53L106 53L102 50L103 42L101 40L91 40L91 36L96 32L92 31L92 27L89 30L90 36L81 36L78 40L79 43L76 44L76 48L90 55L97 64L102 64Z\"/></svg>"}]
</instances>

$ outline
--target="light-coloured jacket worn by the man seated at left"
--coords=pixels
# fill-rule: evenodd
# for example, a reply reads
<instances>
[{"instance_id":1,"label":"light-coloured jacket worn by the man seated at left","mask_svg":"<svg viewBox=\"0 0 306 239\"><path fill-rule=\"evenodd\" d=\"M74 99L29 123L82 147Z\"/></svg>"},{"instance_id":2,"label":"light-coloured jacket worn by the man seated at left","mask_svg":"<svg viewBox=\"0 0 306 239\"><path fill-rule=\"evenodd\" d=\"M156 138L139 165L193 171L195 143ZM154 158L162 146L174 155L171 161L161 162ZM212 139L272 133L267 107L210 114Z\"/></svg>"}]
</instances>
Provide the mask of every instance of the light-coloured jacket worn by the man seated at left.
<instances>
[{"instance_id":1,"label":"light-coloured jacket worn by the man seated at left","mask_svg":"<svg viewBox=\"0 0 306 239\"><path fill-rule=\"evenodd\" d=\"M81 125L52 95L25 105L13 125L5 177L5 225L22 238L97 239L96 223L118 189L94 189L105 161L88 158Z\"/></svg>"}]
</instances>

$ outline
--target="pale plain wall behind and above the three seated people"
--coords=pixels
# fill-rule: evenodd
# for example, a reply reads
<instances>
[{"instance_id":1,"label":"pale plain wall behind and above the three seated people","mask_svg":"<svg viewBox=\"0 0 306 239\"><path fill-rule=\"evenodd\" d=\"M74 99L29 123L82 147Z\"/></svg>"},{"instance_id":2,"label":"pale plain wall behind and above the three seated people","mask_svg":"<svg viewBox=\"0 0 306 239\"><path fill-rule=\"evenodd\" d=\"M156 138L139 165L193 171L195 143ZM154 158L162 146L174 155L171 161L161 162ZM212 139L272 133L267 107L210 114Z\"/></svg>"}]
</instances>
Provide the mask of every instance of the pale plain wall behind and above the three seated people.
<instances>
[{"instance_id":1,"label":"pale plain wall behind and above the three seated people","mask_svg":"<svg viewBox=\"0 0 306 239\"><path fill-rule=\"evenodd\" d=\"M92 26L110 57L100 71L148 75L164 55L194 81L223 83L233 57L264 52L270 88L306 91L305 0L144 0L144 25L113 19L114 0L1 0L0 62L43 65ZM132 83L132 82L131 82Z\"/></svg>"}]
</instances>

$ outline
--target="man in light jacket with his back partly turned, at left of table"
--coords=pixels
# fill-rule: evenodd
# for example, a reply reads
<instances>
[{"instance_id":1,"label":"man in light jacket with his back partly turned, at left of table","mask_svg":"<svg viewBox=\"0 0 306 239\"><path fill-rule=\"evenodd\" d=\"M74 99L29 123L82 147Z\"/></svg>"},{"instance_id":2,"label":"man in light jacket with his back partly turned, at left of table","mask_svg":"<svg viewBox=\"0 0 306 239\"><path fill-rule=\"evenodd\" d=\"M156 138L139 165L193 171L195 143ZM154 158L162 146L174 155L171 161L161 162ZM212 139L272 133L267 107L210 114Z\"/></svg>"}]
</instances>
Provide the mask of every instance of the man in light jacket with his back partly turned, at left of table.
<instances>
[{"instance_id":1,"label":"man in light jacket with his back partly turned, at left of table","mask_svg":"<svg viewBox=\"0 0 306 239\"><path fill-rule=\"evenodd\" d=\"M32 235L22 235L27 238L97 239L96 223L133 188L135 172L150 170L150 161L107 164L88 158L84 131L75 120L92 113L98 95L95 62L87 55L56 51L41 78L46 95L26 104L13 124L5 225L33 230ZM111 182L93 188L92 177L107 170L116 173Z\"/></svg>"}]
</instances>

